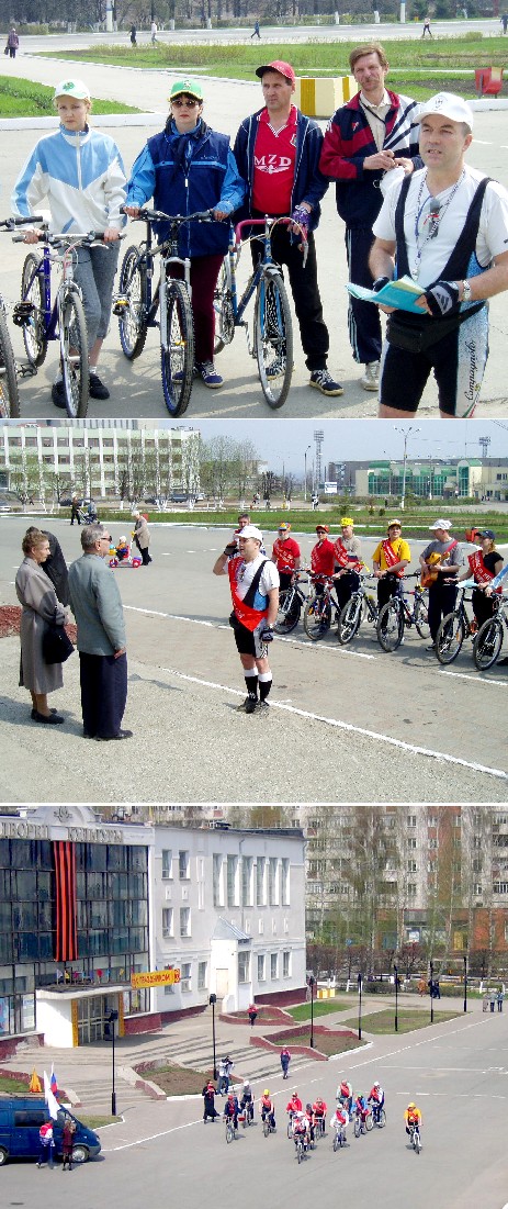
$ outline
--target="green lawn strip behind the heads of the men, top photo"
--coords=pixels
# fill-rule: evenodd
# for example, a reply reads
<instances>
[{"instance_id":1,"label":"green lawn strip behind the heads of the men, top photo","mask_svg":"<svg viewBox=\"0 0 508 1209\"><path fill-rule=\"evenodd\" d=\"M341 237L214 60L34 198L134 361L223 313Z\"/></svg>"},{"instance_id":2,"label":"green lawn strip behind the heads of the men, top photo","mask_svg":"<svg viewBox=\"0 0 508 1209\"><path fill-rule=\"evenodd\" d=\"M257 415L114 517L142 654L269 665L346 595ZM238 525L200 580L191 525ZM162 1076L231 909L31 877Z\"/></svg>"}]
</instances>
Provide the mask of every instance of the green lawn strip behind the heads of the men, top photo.
<instances>
[{"instance_id":1,"label":"green lawn strip behind the heads of the men, top photo","mask_svg":"<svg viewBox=\"0 0 508 1209\"><path fill-rule=\"evenodd\" d=\"M270 45L271 59L293 64L297 75L329 76L349 73L348 56L356 42L308 42ZM165 42L158 46L100 46L80 51L41 52L52 58L80 59L89 63L110 63L118 66L185 70L191 74L222 76L233 80L255 80L259 65L259 50L252 45L182 46ZM409 92L416 100L446 89L465 97L474 96L474 68L504 66L507 42L502 36L460 34L457 37L434 39L421 46L420 39L390 42L390 83L397 91ZM468 70L467 76L457 69ZM442 74L436 74L437 70ZM503 92L507 85L503 86ZM507 92L508 94L508 92Z\"/></svg>"}]
</instances>

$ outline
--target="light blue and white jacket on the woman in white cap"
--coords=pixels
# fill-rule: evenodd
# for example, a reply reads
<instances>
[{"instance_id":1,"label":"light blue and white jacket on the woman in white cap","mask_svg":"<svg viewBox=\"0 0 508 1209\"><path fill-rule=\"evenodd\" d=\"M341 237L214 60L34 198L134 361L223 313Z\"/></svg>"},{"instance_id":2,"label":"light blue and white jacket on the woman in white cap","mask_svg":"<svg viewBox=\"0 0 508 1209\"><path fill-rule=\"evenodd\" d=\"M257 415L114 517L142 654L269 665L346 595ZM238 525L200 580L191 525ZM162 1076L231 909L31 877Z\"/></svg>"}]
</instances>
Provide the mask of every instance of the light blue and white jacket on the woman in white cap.
<instances>
[{"instance_id":1,"label":"light blue and white jacket on the woman in white cap","mask_svg":"<svg viewBox=\"0 0 508 1209\"><path fill-rule=\"evenodd\" d=\"M60 126L40 139L16 181L12 213L35 214L45 197L51 231L119 231L127 222L119 212L125 173L116 143L89 126L77 133Z\"/></svg>"}]
</instances>

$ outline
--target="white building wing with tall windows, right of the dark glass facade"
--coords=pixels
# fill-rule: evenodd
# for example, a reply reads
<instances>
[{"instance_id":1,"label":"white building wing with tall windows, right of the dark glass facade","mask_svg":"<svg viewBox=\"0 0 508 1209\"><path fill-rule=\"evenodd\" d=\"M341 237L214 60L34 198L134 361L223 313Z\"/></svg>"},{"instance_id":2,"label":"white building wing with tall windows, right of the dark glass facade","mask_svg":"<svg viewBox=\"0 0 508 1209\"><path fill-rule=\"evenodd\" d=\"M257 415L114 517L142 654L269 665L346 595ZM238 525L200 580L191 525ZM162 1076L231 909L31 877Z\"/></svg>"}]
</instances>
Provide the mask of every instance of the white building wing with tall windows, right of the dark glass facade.
<instances>
[{"instance_id":1,"label":"white building wing with tall windows, right of the dark glass facade","mask_svg":"<svg viewBox=\"0 0 508 1209\"><path fill-rule=\"evenodd\" d=\"M216 994L224 1010L284 1001L305 985L304 838L293 829L154 827L152 1011L185 1011Z\"/></svg>"}]
</instances>

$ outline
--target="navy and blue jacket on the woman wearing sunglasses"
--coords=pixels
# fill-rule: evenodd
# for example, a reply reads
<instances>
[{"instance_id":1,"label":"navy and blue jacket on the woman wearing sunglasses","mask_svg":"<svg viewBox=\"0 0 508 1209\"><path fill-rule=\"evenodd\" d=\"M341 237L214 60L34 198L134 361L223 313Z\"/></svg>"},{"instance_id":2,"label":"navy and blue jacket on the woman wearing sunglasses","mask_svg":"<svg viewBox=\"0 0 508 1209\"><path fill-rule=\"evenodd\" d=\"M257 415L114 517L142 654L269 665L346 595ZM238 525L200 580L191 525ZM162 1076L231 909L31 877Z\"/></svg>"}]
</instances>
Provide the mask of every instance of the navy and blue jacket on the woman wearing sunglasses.
<instances>
[{"instance_id":1,"label":"navy and blue jacket on the woman wearing sunglasses","mask_svg":"<svg viewBox=\"0 0 508 1209\"><path fill-rule=\"evenodd\" d=\"M148 139L133 166L127 204L153 206L164 214L194 214L197 210L224 210L233 214L244 201L241 180L229 137L211 131L200 118L194 131L179 134L174 121L160 134ZM154 225L159 239L168 235L168 224ZM229 243L229 224L189 222L180 229L179 251L182 256L224 254Z\"/></svg>"}]
</instances>

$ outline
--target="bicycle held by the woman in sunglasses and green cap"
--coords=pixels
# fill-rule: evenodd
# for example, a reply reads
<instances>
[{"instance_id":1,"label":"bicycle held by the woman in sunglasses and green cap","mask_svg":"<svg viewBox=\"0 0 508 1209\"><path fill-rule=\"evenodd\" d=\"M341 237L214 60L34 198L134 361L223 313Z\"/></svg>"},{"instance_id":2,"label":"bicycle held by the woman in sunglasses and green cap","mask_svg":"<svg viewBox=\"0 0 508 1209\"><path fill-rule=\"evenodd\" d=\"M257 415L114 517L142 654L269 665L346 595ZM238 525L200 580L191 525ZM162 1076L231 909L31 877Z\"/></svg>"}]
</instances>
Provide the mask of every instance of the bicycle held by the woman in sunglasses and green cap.
<instances>
[{"instance_id":1,"label":"bicycle held by the woman in sunglasses and green cap","mask_svg":"<svg viewBox=\"0 0 508 1209\"><path fill-rule=\"evenodd\" d=\"M186 222L211 222L211 210L170 215L141 207L134 221L146 222L146 238L139 248L134 244L128 248L122 260L113 302L119 342L128 360L134 361L145 348L148 328L159 328L164 401L170 416L182 416L188 407L194 376L194 323L191 259L179 254L179 232ZM153 243L153 222L169 222L169 235L162 243ZM160 256L160 274L152 290L156 256ZM182 267L182 279L168 276L171 265Z\"/></svg>"}]
</instances>

